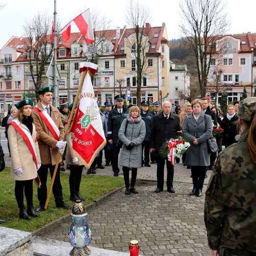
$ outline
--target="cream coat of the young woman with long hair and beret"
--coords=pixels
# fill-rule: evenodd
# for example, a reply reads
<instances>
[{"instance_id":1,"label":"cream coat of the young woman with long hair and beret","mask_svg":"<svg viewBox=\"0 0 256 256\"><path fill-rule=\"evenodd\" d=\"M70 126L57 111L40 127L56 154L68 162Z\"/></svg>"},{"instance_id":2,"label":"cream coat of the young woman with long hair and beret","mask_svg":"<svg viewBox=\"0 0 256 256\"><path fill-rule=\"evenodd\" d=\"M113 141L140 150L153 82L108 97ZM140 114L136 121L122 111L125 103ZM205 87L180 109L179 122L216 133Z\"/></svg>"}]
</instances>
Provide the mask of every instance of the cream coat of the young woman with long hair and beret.
<instances>
[{"instance_id":1,"label":"cream coat of the young woman with long hair and beret","mask_svg":"<svg viewBox=\"0 0 256 256\"><path fill-rule=\"evenodd\" d=\"M20 124L20 126L24 127L29 131L28 127L24 124ZM36 130L35 125L33 124L33 133L32 139L35 141L36 139ZM8 140L10 145L10 153L11 153L11 178L13 180L32 180L37 177L37 166L33 160L32 154L27 146L24 138L15 130L13 125L9 125L8 127ZM40 163L40 153L38 148L38 143L35 142L35 149L37 154L37 162ZM21 177L18 177L14 173L14 169L18 169L22 167L23 174Z\"/></svg>"}]
</instances>

